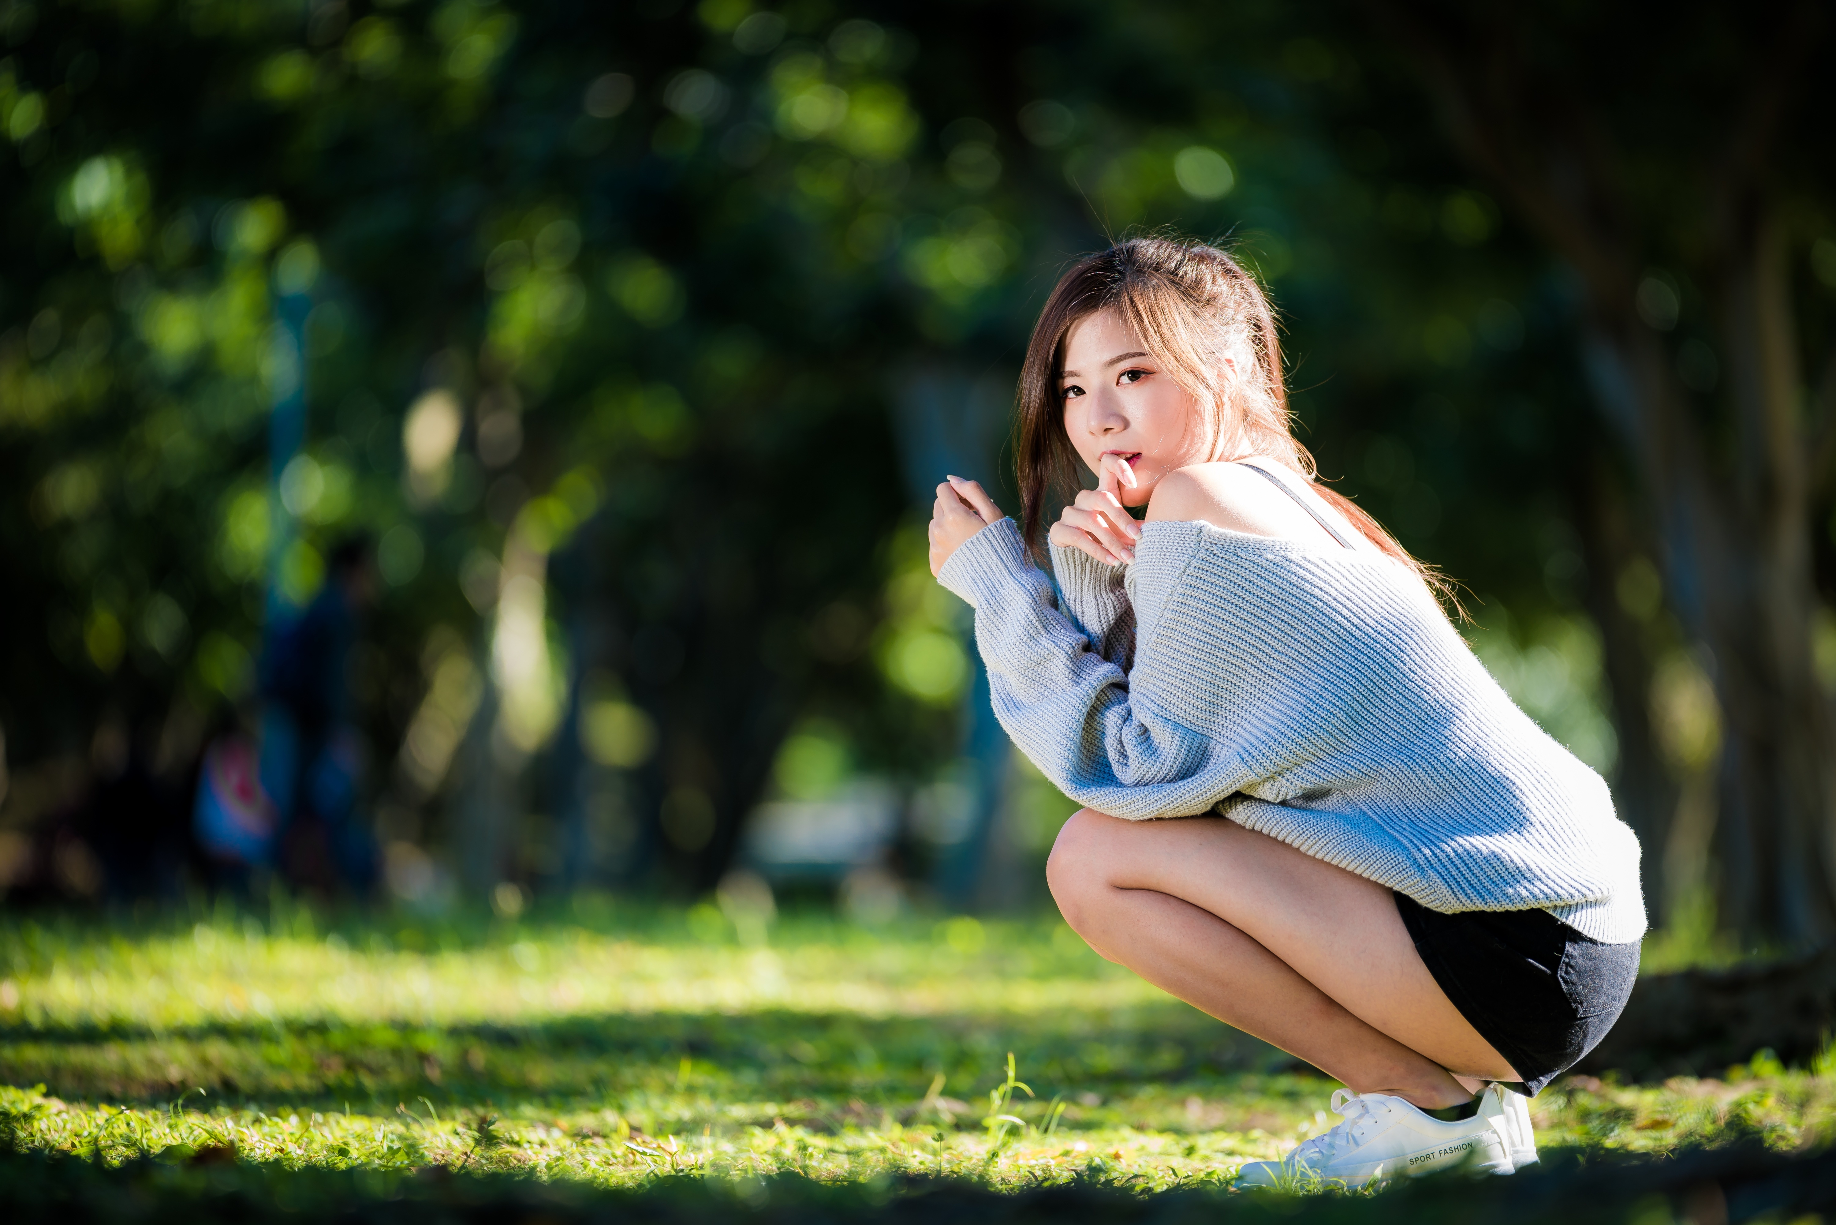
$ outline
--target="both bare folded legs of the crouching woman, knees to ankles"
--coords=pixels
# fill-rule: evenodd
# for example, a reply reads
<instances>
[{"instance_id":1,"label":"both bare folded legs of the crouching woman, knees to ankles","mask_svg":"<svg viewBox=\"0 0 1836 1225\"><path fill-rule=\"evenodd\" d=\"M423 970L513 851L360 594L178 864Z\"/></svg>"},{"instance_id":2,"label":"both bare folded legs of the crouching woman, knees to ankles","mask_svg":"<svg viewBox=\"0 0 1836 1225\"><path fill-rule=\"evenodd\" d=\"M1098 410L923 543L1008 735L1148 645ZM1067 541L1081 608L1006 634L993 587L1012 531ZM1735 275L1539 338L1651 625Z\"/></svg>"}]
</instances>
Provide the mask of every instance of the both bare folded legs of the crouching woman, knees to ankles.
<instances>
[{"instance_id":1,"label":"both bare folded legs of the crouching woman, knees to ankles","mask_svg":"<svg viewBox=\"0 0 1836 1225\"><path fill-rule=\"evenodd\" d=\"M1518 1080L1436 984L1386 887L1272 837L1085 808L1047 878L1098 953L1357 1093L1434 1109Z\"/></svg>"}]
</instances>

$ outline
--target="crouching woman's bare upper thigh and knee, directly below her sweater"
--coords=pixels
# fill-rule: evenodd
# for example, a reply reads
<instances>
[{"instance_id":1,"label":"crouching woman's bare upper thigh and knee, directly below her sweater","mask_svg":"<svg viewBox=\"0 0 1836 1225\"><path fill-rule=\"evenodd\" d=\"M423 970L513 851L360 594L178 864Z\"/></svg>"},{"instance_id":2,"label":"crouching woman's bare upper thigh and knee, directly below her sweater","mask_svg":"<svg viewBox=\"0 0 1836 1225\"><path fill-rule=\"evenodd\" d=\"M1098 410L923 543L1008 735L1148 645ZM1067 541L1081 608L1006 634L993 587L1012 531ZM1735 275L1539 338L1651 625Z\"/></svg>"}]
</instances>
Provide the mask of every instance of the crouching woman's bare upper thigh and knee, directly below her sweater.
<instances>
[{"instance_id":1,"label":"crouching woman's bare upper thigh and knee, directly below her sweater","mask_svg":"<svg viewBox=\"0 0 1836 1225\"><path fill-rule=\"evenodd\" d=\"M1052 849L1067 920L1102 940L1105 891L1153 889L1237 927L1346 1012L1436 1063L1509 1078L1509 1063L1447 999L1388 887L1223 817L1074 815ZM1080 922L1081 920L1081 922Z\"/></svg>"}]
</instances>

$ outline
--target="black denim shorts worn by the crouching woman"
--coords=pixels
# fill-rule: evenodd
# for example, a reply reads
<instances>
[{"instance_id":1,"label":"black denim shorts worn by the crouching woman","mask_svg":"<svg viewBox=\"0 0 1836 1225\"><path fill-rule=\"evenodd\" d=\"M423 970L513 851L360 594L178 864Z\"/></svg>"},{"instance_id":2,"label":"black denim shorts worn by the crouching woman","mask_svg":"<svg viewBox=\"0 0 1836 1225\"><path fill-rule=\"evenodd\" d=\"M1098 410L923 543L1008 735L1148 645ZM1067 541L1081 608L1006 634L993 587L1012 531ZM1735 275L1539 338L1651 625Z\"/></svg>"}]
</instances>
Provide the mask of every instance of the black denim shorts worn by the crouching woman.
<instances>
[{"instance_id":1,"label":"black denim shorts worn by the crouching woman","mask_svg":"<svg viewBox=\"0 0 1836 1225\"><path fill-rule=\"evenodd\" d=\"M1428 973L1529 1095L1599 1045L1638 979L1638 940L1601 944L1548 911L1441 915L1401 893L1395 909Z\"/></svg>"}]
</instances>

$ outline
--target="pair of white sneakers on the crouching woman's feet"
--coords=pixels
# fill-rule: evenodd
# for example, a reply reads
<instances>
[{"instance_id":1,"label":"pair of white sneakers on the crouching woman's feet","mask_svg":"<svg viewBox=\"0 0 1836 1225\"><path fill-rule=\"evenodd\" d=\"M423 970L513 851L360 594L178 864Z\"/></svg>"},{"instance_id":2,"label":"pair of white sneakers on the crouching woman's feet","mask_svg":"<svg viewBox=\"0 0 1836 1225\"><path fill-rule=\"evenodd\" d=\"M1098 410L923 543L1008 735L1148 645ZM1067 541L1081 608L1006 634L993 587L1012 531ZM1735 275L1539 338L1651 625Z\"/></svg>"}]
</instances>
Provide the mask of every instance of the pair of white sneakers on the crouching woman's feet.
<instances>
[{"instance_id":1,"label":"pair of white sneakers on the crouching woman's feet","mask_svg":"<svg viewBox=\"0 0 1836 1225\"><path fill-rule=\"evenodd\" d=\"M1474 1115L1441 1122L1412 1102L1384 1093L1333 1093L1333 1113L1344 1122L1298 1144L1282 1161L1252 1161L1237 1172L1237 1186L1309 1190L1315 1183L1364 1186L1381 1175L1428 1174L1467 1166L1485 1174L1515 1174L1506 1139L1491 1118Z\"/></svg>"}]
</instances>

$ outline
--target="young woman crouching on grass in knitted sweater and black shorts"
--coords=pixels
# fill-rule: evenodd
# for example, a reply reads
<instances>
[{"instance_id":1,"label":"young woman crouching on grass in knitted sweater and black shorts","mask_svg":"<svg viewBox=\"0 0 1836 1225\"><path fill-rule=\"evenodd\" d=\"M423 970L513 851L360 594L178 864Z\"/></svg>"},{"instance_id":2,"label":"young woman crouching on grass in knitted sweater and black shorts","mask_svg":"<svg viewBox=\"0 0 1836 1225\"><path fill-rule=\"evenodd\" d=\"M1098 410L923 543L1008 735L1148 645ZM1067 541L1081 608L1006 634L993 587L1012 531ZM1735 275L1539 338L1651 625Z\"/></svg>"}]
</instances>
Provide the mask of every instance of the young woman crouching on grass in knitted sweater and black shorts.
<instances>
[{"instance_id":1,"label":"young woman crouching on grass in knitted sweater and black shorts","mask_svg":"<svg viewBox=\"0 0 1836 1225\"><path fill-rule=\"evenodd\" d=\"M1109 961L1346 1084L1344 1122L1241 1181L1535 1161L1526 1095L1638 973L1638 839L1606 784L1498 689L1434 575L1313 481L1226 253L1076 264L1019 417L1024 531L951 478L931 569L975 606L1001 724L1087 804L1052 896ZM1054 496L1056 590L1028 551Z\"/></svg>"}]
</instances>

